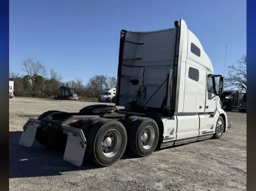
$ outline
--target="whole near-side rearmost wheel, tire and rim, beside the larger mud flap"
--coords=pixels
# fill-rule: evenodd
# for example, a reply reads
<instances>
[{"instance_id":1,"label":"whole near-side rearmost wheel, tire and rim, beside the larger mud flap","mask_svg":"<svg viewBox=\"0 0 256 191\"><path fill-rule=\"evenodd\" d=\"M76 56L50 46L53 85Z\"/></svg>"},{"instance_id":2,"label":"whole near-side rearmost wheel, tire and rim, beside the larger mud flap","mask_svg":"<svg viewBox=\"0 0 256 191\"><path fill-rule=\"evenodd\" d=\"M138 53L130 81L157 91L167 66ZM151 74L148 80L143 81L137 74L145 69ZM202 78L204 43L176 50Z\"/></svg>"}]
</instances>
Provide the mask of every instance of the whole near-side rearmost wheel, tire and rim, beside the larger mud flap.
<instances>
[{"instance_id":1,"label":"whole near-side rearmost wheel, tire and rim, beside the larger mud flap","mask_svg":"<svg viewBox=\"0 0 256 191\"><path fill-rule=\"evenodd\" d=\"M99 166L110 166L124 154L127 134L124 125L111 119L101 119L91 128L87 140L87 155Z\"/></svg>"}]
</instances>

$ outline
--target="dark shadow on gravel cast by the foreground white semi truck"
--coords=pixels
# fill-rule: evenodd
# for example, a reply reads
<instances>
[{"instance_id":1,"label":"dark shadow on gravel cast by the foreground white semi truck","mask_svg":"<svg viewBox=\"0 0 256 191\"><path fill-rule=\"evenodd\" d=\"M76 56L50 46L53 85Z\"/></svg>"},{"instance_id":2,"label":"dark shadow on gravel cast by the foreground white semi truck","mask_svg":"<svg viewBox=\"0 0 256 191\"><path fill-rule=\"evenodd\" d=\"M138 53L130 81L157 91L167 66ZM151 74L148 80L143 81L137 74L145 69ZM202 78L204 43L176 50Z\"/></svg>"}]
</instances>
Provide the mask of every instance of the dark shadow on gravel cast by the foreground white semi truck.
<instances>
[{"instance_id":1,"label":"dark shadow on gravel cast by the foreground white semi truck","mask_svg":"<svg viewBox=\"0 0 256 191\"><path fill-rule=\"evenodd\" d=\"M63 160L64 152L46 149L36 140L30 148L19 145L21 134L22 131L9 131L9 178L58 176L67 171L99 168L90 161L80 167L74 166ZM131 158L134 157L122 157Z\"/></svg>"}]
</instances>

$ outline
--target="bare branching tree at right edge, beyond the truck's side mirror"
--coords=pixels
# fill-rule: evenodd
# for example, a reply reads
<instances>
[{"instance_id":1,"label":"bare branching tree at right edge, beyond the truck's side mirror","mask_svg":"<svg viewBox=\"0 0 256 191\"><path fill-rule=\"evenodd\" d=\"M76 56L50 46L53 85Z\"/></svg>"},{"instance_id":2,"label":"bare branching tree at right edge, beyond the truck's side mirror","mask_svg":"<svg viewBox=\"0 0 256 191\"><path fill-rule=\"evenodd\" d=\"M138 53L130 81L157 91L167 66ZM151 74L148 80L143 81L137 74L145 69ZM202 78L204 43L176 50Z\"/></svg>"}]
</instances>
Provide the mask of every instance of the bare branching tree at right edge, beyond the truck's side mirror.
<instances>
[{"instance_id":1,"label":"bare branching tree at right edge, beyond the truck's side mirror","mask_svg":"<svg viewBox=\"0 0 256 191\"><path fill-rule=\"evenodd\" d=\"M237 65L228 66L228 77L225 77L224 87L227 90L237 89L242 92L247 91L247 56L244 54Z\"/></svg>"}]
</instances>

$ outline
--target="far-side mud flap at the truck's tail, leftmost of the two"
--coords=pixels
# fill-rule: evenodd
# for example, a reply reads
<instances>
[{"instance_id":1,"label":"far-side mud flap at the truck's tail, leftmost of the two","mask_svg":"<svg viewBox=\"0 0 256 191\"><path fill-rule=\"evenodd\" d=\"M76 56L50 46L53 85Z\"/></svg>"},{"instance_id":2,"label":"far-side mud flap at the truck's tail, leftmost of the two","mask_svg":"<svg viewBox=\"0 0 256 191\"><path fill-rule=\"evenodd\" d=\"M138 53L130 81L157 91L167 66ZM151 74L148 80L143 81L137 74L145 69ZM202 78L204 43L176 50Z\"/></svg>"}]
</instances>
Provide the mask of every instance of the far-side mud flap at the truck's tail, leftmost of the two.
<instances>
[{"instance_id":1,"label":"far-side mud flap at the truck's tail, leftmost of the two","mask_svg":"<svg viewBox=\"0 0 256 191\"><path fill-rule=\"evenodd\" d=\"M20 137L19 145L30 147L33 145L36 136L36 130L41 127L41 121L30 118L23 126L24 131Z\"/></svg>"}]
</instances>

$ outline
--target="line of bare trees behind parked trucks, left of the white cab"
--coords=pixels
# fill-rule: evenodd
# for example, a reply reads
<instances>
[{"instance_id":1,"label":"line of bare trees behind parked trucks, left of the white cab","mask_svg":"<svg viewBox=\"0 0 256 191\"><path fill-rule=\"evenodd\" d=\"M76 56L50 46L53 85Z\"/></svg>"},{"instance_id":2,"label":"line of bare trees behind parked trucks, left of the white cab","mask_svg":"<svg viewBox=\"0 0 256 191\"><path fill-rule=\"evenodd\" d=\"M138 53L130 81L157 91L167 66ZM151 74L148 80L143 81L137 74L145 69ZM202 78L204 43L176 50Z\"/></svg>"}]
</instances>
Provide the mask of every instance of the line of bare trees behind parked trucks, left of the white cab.
<instances>
[{"instance_id":1,"label":"line of bare trees behind parked trucks, left of the white cab","mask_svg":"<svg viewBox=\"0 0 256 191\"><path fill-rule=\"evenodd\" d=\"M63 82L63 75L48 69L41 62L26 59L22 62L26 75L9 72L9 80L14 81L14 95L17 97L50 98L59 93L60 86L74 89L80 99L98 97L104 89L116 87L116 77L94 75L85 84L80 78Z\"/></svg>"}]
</instances>

